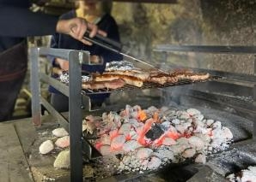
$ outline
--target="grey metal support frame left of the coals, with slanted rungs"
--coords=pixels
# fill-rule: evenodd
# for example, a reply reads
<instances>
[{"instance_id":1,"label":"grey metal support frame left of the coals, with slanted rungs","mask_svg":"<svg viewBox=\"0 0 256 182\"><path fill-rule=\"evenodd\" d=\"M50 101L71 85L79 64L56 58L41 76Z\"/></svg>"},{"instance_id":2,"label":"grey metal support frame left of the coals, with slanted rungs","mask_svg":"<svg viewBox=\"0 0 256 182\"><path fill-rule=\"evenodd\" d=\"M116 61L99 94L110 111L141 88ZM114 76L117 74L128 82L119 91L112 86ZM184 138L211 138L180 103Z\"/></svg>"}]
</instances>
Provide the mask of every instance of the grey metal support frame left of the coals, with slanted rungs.
<instances>
[{"instance_id":1,"label":"grey metal support frame left of the coals, with slanted rungs","mask_svg":"<svg viewBox=\"0 0 256 182\"><path fill-rule=\"evenodd\" d=\"M88 141L82 138L82 72L81 65L91 64L88 51L62 50L51 48L31 48L29 59L31 62L31 90L32 90L32 120L36 126L41 125L41 105L56 117L59 124L70 132L70 181L82 181L82 155L86 154L88 159L92 156L92 147ZM69 83L64 85L46 73L40 73L40 56L53 56L63 58L70 62ZM52 85L65 96L69 97L69 120L43 97L40 97L40 79ZM85 97L86 104L83 103L85 110L90 111L89 97Z\"/></svg>"}]
</instances>

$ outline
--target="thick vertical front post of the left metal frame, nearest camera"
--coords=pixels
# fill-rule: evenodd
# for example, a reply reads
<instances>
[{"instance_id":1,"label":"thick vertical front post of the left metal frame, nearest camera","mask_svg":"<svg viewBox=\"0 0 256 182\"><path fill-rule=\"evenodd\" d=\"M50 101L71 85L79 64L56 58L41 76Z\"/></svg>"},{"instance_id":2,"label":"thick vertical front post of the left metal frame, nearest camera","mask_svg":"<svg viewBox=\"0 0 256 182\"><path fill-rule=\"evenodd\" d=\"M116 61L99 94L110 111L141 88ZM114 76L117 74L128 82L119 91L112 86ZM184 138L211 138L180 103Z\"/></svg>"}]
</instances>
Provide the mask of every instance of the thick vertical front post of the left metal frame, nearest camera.
<instances>
[{"instance_id":1,"label":"thick vertical front post of the left metal frame, nearest camera","mask_svg":"<svg viewBox=\"0 0 256 182\"><path fill-rule=\"evenodd\" d=\"M79 51L70 51L70 181L82 182L82 72Z\"/></svg>"}]
</instances>

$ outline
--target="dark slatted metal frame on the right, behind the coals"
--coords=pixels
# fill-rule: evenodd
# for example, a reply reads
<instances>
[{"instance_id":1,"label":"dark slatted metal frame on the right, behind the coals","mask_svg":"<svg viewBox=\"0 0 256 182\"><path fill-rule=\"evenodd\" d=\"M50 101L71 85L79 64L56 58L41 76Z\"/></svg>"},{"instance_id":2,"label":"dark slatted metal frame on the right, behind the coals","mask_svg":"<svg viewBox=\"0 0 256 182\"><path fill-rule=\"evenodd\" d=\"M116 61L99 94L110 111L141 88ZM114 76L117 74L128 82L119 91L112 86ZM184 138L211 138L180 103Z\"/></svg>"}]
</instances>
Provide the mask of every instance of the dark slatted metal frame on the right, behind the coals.
<instances>
[{"instance_id":1,"label":"dark slatted metal frame on the right, behind the coals","mask_svg":"<svg viewBox=\"0 0 256 182\"><path fill-rule=\"evenodd\" d=\"M254 55L254 74L243 74L243 73L229 73L222 72L210 69L202 68L192 68L197 72L207 72L212 75L221 76L226 80L239 80L241 82L247 82L253 85L252 88L243 85L232 85L232 82L218 82L218 80L213 82L207 82L205 84L194 85L192 91L186 91L188 95L192 97L198 97L199 99L204 99L212 103L219 103L222 105L230 106L238 110L239 115L245 117L249 120L253 120L253 139L256 139L256 46L216 46L216 45L172 45L172 44L159 44L155 46L155 52L161 52L163 59L166 61L168 58L168 53L174 52L197 52L197 53L208 53L208 54L250 54ZM180 68L177 67L177 68ZM214 93L204 92L211 85L218 85L217 88L220 88L222 91L225 89L238 88L239 91L243 93L250 93L250 96L253 97L253 103L247 103L238 101L234 97L228 97L223 95L216 95ZM224 86L226 85L226 87ZM214 86L212 86L213 88ZM189 89L189 88L187 88ZM186 94L183 92L182 94Z\"/></svg>"}]
</instances>

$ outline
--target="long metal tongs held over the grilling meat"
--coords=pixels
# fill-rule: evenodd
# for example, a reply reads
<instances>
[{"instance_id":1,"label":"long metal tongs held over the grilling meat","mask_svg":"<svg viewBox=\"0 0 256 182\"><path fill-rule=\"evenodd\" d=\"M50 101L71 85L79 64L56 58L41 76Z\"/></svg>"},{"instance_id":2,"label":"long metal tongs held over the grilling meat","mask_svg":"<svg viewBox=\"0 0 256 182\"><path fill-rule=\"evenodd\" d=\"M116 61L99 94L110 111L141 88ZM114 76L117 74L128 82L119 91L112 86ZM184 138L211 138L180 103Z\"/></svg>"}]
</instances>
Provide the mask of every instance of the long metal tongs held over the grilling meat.
<instances>
[{"instance_id":1,"label":"long metal tongs held over the grilling meat","mask_svg":"<svg viewBox=\"0 0 256 182\"><path fill-rule=\"evenodd\" d=\"M94 38L89 38L89 31L87 31L83 38L85 40L88 40L89 42L93 43L93 44L97 44L107 50L111 50L115 53L118 53L119 55L122 55L122 56L125 56L125 57L128 57L128 58L131 58L132 60L136 61L136 62L141 62L143 64L146 64L147 66L149 66L150 68L154 68L154 69L157 69L161 72L165 72L159 68L155 68L155 66L153 66L152 64L150 64L149 62L145 62L141 59L137 59L135 56L131 56L131 55L128 55L128 54L125 54L123 51L122 51L122 48L123 48L123 45L120 44L119 42L116 42L114 41L113 39L110 39L110 38L106 38L106 37L103 37L99 34L96 34L94 36Z\"/></svg>"}]
</instances>

